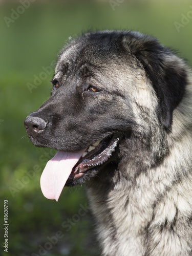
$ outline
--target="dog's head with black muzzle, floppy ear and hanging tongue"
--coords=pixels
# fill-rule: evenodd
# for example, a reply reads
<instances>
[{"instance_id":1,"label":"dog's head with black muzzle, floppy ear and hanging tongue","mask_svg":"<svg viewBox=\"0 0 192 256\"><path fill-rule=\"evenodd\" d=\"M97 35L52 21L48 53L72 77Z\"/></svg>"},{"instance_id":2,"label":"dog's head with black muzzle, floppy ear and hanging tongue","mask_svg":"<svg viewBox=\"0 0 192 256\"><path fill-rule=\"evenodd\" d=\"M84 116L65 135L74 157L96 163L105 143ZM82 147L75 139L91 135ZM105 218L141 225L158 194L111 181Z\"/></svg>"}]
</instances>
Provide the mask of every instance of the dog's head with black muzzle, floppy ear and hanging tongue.
<instances>
[{"instance_id":1,"label":"dog's head with black muzzle, floppy ear and hanging tongue","mask_svg":"<svg viewBox=\"0 0 192 256\"><path fill-rule=\"evenodd\" d=\"M58 150L41 176L44 195L58 200L66 181L117 167L153 136L166 147L185 77L182 60L150 36L103 31L72 40L58 57L51 97L25 120L34 145ZM155 161L165 153L153 154Z\"/></svg>"}]
</instances>

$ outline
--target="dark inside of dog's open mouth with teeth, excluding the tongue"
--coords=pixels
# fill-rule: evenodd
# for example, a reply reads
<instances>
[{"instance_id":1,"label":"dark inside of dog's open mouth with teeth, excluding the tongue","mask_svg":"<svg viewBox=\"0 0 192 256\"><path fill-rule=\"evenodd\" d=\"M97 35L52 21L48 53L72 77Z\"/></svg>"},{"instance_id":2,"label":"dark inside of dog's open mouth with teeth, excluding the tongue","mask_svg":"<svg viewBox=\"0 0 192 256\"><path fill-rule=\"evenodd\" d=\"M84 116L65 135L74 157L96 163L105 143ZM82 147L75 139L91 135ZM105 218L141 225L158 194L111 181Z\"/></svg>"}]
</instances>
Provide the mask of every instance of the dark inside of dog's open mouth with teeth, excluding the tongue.
<instances>
[{"instance_id":1,"label":"dark inside of dog's open mouth with teeth, excluding the tongue","mask_svg":"<svg viewBox=\"0 0 192 256\"><path fill-rule=\"evenodd\" d=\"M108 161L115 151L120 138L121 136L115 134L110 138L102 141L98 140L90 145L73 167L69 179L78 179L86 173L87 170L102 165Z\"/></svg>"}]
</instances>

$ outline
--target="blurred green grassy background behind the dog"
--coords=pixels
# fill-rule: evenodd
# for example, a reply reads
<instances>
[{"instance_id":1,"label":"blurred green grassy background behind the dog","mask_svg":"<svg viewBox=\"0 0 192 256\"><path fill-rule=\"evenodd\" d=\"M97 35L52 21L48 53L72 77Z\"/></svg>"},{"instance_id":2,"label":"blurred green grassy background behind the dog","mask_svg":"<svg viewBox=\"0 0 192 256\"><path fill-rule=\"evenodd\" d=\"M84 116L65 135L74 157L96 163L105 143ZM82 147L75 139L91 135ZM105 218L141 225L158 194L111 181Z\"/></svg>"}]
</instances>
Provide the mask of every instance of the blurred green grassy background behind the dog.
<instances>
[{"instance_id":1,"label":"blurred green grassy background behind the dog","mask_svg":"<svg viewBox=\"0 0 192 256\"><path fill-rule=\"evenodd\" d=\"M56 56L81 31L138 30L178 50L190 65L192 2L6 0L0 1L0 17L0 254L98 256L85 187L65 188L58 202L42 195L40 175L55 152L32 145L24 119L49 97Z\"/></svg>"}]
</instances>

